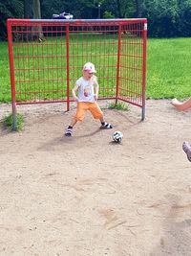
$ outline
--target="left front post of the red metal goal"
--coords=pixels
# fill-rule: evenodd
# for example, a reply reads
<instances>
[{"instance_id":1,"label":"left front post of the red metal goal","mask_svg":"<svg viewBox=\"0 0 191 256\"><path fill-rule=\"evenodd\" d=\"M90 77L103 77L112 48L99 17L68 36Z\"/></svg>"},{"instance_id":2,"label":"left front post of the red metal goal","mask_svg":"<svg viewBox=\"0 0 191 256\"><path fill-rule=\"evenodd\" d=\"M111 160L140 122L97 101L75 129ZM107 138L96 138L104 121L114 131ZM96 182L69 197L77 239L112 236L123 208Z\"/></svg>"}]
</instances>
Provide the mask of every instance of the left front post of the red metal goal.
<instances>
[{"instance_id":1,"label":"left front post of the red metal goal","mask_svg":"<svg viewBox=\"0 0 191 256\"><path fill-rule=\"evenodd\" d=\"M8 47L10 58L10 74L11 74L11 105L12 105L12 129L16 129L16 97L15 97L15 81L14 81L14 63L12 52L12 39L11 39L11 21L7 20L8 28Z\"/></svg>"}]
</instances>

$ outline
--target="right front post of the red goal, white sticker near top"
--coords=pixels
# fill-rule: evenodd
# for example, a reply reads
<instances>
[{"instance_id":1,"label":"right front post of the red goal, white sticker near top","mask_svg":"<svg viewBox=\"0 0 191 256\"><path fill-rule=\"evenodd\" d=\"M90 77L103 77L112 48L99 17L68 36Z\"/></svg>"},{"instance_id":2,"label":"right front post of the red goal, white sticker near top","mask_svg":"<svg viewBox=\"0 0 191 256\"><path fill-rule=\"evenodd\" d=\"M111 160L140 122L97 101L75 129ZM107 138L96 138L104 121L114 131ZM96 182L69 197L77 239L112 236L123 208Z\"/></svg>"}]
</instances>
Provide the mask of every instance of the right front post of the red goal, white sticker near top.
<instances>
[{"instance_id":1,"label":"right front post of the red goal, white sticker near top","mask_svg":"<svg viewBox=\"0 0 191 256\"><path fill-rule=\"evenodd\" d=\"M147 20L143 28L143 63L142 63L142 117L145 118L145 83L146 83L146 48L147 48Z\"/></svg>"}]
</instances>

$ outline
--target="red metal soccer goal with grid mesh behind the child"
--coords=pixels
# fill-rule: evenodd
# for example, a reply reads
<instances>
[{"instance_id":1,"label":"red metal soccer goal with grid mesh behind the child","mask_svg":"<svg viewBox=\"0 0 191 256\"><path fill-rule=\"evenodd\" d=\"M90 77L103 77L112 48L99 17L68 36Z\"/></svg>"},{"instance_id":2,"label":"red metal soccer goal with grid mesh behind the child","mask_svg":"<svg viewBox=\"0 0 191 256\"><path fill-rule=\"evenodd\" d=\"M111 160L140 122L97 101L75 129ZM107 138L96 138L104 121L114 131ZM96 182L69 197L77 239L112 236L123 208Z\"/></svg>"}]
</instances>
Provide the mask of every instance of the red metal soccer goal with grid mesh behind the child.
<instances>
[{"instance_id":1,"label":"red metal soccer goal with grid mesh behind the child","mask_svg":"<svg viewBox=\"0 0 191 256\"><path fill-rule=\"evenodd\" d=\"M99 99L141 108L145 117L147 20L8 19L13 128L16 105L73 101L83 64L96 65Z\"/></svg>"}]
</instances>

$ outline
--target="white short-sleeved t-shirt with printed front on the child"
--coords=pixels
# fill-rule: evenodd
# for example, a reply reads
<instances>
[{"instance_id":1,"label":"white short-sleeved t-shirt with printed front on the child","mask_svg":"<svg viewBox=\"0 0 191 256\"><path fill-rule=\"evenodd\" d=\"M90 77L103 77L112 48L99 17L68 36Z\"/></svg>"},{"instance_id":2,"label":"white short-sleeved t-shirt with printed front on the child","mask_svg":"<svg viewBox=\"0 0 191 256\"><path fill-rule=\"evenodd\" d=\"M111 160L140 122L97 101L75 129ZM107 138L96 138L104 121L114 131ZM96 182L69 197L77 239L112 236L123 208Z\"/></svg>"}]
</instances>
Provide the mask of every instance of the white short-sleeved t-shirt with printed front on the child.
<instances>
[{"instance_id":1,"label":"white short-sleeved t-shirt with printed front on the child","mask_svg":"<svg viewBox=\"0 0 191 256\"><path fill-rule=\"evenodd\" d=\"M96 76L93 76L88 81L81 77L75 82L75 84L78 86L78 102L95 102L95 86L98 85Z\"/></svg>"}]
</instances>

